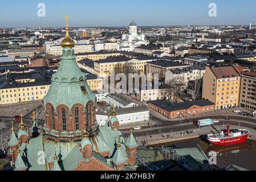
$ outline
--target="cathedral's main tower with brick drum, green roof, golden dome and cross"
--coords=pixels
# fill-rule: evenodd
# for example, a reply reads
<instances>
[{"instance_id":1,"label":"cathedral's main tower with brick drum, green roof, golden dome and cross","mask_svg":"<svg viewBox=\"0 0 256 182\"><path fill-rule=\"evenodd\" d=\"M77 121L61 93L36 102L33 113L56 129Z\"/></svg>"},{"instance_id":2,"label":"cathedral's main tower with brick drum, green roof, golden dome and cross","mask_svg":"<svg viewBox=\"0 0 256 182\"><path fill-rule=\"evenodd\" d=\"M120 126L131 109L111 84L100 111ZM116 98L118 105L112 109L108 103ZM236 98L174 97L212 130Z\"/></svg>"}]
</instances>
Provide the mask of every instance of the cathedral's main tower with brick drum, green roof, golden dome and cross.
<instances>
[{"instance_id":1,"label":"cathedral's main tower with brick drum, green roof, golden dome and cross","mask_svg":"<svg viewBox=\"0 0 256 182\"><path fill-rule=\"evenodd\" d=\"M66 16L66 36L60 43L63 47L62 61L58 71L52 75L51 86L43 98L46 113L44 131L54 140L77 140L82 138L82 131L91 132L96 126L96 96L87 84L74 56L75 42L68 34ZM91 134L91 133L90 133Z\"/></svg>"}]
</instances>

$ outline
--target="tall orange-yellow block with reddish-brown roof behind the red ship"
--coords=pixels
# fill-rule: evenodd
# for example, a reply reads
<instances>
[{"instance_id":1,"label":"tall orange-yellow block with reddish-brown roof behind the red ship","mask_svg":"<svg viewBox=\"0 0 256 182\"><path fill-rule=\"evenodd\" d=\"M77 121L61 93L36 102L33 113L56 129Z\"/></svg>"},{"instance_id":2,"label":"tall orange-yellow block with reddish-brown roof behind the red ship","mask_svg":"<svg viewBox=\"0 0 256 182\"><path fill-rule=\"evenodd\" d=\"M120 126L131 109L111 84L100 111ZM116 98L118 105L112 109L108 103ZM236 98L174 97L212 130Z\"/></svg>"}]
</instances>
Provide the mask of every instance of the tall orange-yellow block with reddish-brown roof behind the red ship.
<instances>
[{"instance_id":1,"label":"tall orange-yellow block with reddish-brown roof behind the red ship","mask_svg":"<svg viewBox=\"0 0 256 182\"><path fill-rule=\"evenodd\" d=\"M232 66L206 67L202 98L215 103L216 110L239 105L241 76Z\"/></svg>"}]
</instances>

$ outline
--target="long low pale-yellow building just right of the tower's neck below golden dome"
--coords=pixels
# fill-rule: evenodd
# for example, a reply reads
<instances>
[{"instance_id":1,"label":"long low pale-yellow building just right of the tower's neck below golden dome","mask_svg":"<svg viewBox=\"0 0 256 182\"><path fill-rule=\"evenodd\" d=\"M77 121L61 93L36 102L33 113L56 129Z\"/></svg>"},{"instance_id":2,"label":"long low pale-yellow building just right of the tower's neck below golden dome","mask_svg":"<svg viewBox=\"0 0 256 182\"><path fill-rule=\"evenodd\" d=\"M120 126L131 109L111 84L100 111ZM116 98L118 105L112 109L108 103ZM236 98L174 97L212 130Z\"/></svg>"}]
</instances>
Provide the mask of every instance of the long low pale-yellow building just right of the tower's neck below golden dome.
<instances>
[{"instance_id":1,"label":"long low pale-yellow building just right of the tower's neck below golden dome","mask_svg":"<svg viewBox=\"0 0 256 182\"><path fill-rule=\"evenodd\" d=\"M93 61L106 59L107 57L120 56L120 52L91 52L91 53L77 53L75 54L76 61L82 59L91 59Z\"/></svg>"}]
</instances>

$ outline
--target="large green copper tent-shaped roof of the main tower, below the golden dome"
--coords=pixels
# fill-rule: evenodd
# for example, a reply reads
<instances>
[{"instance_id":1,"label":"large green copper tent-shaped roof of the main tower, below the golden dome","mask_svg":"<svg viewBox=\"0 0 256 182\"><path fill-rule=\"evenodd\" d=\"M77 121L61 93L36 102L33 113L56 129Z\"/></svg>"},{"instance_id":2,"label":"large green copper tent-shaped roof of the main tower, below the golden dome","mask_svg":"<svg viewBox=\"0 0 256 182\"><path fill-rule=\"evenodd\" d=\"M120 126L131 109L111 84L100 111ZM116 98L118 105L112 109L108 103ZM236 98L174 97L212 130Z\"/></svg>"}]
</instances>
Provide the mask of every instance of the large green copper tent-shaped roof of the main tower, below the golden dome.
<instances>
[{"instance_id":1,"label":"large green copper tent-shaped roof of the main tower, below the golden dome","mask_svg":"<svg viewBox=\"0 0 256 182\"><path fill-rule=\"evenodd\" d=\"M90 100L95 102L96 96L87 84L86 73L78 67L73 51L63 49L58 71L52 75L50 88L43 98L44 106L50 102L54 108L64 104L71 109L74 104L85 106Z\"/></svg>"}]
</instances>

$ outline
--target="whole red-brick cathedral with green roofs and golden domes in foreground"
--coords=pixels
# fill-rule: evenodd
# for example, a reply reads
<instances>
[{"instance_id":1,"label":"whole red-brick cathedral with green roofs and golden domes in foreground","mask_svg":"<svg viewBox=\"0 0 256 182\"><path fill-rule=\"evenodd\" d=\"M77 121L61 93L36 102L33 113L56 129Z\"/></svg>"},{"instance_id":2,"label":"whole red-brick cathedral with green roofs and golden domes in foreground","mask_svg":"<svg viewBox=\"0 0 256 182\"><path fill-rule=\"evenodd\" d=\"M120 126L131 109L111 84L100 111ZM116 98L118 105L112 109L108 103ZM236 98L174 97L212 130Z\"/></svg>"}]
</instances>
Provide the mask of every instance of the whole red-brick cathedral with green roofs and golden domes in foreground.
<instances>
[{"instance_id":1,"label":"whole red-brick cathedral with green roofs and golden domes in foreground","mask_svg":"<svg viewBox=\"0 0 256 182\"><path fill-rule=\"evenodd\" d=\"M33 112L30 129L22 116L17 135L11 128L11 166L16 171L136 170L137 143L132 130L123 138L115 107L106 125L96 122L96 96L75 61L75 42L65 18L62 61L42 101L44 126L39 129Z\"/></svg>"}]
</instances>

